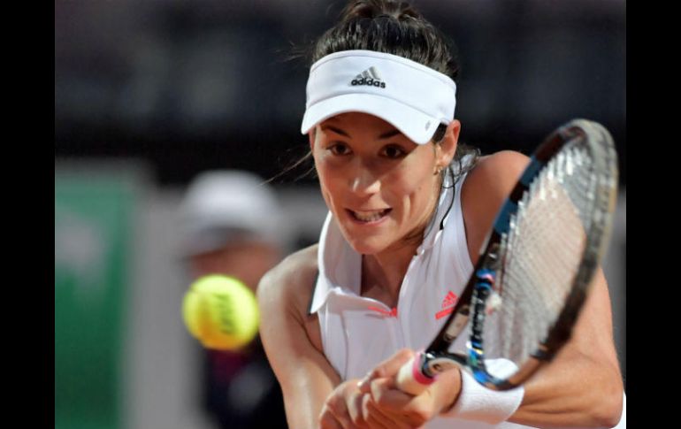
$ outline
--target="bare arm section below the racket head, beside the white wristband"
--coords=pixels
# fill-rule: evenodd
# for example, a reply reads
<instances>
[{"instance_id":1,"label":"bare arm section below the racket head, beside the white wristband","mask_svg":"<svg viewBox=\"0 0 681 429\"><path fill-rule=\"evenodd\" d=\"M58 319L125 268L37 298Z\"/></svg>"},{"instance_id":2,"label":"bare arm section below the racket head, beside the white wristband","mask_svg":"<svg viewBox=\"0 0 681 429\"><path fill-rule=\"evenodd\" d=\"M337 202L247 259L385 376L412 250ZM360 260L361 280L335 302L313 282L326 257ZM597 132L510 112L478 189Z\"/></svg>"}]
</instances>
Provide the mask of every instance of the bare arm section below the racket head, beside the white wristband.
<instances>
[{"instance_id":1,"label":"bare arm section below the racket head, beside the white wristband","mask_svg":"<svg viewBox=\"0 0 681 429\"><path fill-rule=\"evenodd\" d=\"M538 427L613 427L622 413L623 383L613 341L608 285L601 270L572 338L528 380L509 421Z\"/></svg>"}]
</instances>

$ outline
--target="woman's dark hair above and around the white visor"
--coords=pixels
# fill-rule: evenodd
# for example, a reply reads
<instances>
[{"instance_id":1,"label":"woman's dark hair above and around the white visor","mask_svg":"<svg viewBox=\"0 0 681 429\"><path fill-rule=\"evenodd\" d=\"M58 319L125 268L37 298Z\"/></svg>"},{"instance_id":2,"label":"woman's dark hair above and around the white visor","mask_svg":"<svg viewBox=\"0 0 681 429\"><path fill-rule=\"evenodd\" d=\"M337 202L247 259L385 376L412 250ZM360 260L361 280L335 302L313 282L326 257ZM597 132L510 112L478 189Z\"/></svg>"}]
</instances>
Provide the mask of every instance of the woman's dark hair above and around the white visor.
<instances>
[{"instance_id":1,"label":"woman's dark hair above and around the white visor","mask_svg":"<svg viewBox=\"0 0 681 429\"><path fill-rule=\"evenodd\" d=\"M459 75L455 43L406 2L350 1L341 12L340 21L326 30L303 55L312 65L322 57L342 50L374 50L393 54L426 65L455 81ZM439 143L446 130L447 126L440 124L432 141ZM471 162L463 165L463 157L469 154L472 155ZM443 178L449 173L458 180L463 172L475 165L478 156L478 149L460 143L452 165L442 172ZM310 157L309 153L291 168Z\"/></svg>"}]
</instances>

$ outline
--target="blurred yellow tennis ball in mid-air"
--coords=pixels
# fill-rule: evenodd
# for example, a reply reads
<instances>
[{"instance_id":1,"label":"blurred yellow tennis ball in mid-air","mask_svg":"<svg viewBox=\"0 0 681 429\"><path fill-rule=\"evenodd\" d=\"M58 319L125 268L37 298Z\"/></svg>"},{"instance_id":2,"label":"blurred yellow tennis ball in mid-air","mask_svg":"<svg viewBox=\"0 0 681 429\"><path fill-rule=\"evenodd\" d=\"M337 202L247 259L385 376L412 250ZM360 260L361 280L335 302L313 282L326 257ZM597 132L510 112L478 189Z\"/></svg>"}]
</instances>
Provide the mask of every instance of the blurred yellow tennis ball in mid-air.
<instances>
[{"instance_id":1,"label":"blurred yellow tennis ball in mid-air","mask_svg":"<svg viewBox=\"0 0 681 429\"><path fill-rule=\"evenodd\" d=\"M206 349L236 350L256 337L256 296L240 280L211 274L196 280L184 297L182 317Z\"/></svg>"}]
</instances>

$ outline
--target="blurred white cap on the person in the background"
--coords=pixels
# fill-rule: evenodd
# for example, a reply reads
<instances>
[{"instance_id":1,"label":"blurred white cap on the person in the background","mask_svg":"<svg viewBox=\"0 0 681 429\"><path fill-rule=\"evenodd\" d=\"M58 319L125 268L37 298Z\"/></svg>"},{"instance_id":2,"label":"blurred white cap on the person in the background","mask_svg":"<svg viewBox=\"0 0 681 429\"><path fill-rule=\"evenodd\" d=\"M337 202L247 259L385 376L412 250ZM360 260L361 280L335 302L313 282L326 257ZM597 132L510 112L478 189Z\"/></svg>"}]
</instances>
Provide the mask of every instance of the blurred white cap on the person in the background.
<instances>
[{"instance_id":1,"label":"blurred white cap on the person in the background","mask_svg":"<svg viewBox=\"0 0 681 429\"><path fill-rule=\"evenodd\" d=\"M274 191L250 172L203 172L180 206L182 253L195 256L230 241L256 240L285 246L283 211Z\"/></svg>"}]
</instances>

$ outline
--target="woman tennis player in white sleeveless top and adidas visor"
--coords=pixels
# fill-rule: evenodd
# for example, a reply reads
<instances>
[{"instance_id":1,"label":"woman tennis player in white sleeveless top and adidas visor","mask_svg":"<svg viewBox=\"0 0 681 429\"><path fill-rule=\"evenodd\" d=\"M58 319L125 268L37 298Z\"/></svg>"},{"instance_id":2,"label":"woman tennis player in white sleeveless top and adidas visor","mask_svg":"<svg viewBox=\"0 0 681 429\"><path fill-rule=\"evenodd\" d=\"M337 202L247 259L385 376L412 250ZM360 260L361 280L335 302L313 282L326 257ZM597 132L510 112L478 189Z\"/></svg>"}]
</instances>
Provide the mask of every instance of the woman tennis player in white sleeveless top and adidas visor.
<instances>
[{"instance_id":1,"label":"woman tennis player in white sleeveless top and adidas visor","mask_svg":"<svg viewBox=\"0 0 681 429\"><path fill-rule=\"evenodd\" d=\"M409 4L351 2L312 63L302 134L329 213L318 244L258 288L288 425L624 427L602 272L569 344L523 387L495 392L458 369L421 395L395 387L454 306L528 159L459 144L456 58Z\"/></svg>"}]
</instances>

